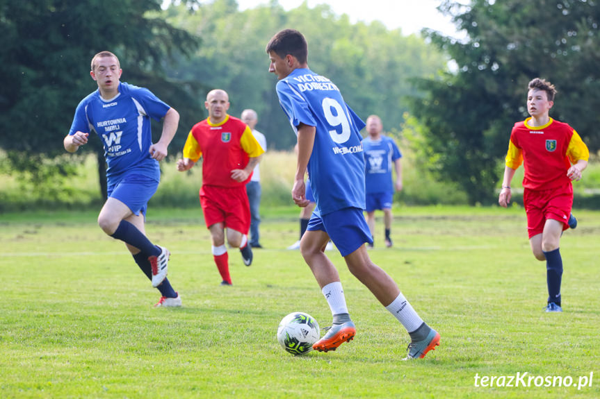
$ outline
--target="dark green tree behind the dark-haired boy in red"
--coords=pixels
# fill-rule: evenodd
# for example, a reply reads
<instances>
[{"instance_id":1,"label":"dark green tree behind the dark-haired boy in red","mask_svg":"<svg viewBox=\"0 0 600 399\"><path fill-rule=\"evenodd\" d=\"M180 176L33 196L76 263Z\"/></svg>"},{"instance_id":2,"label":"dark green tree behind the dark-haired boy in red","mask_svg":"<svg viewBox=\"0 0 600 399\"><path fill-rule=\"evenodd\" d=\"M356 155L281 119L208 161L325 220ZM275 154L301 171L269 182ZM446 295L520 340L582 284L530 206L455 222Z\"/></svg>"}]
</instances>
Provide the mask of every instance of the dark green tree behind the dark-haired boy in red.
<instances>
[{"instance_id":1,"label":"dark green tree behind the dark-haired boy in red","mask_svg":"<svg viewBox=\"0 0 600 399\"><path fill-rule=\"evenodd\" d=\"M558 87L551 117L574 126L596 151L600 133L599 17L596 1L446 0L440 9L466 37L425 35L455 62L456 70L421 80L428 95L412 103L426 126L428 151L441 178L458 182L471 203L496 201L514 122L527 117L527 83L535 77Z\"/></svg>"}]
</instances>

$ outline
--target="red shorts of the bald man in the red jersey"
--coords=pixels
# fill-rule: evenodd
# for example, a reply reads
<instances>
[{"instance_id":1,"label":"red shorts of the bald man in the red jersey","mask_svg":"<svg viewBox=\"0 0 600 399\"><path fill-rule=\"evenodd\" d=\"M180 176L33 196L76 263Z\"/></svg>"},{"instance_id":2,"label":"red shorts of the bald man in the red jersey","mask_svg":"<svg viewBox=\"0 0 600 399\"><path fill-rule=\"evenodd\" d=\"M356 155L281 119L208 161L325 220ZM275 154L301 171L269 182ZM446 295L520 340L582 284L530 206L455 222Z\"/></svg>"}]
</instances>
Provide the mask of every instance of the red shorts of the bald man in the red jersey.
<instances>
[{"instance_id":1,"label":"red shorts of the bald man in the red jersey","mask_svg":"<svg viewBox=\"0 0 600 399\"><path fill-rule=\"evenodd\" d=\"M240 187L202 186L200 205L204 212L206 227L223 223L242 234L250 229L250 203L245 185Z\"/></svg>"}]
</instances>

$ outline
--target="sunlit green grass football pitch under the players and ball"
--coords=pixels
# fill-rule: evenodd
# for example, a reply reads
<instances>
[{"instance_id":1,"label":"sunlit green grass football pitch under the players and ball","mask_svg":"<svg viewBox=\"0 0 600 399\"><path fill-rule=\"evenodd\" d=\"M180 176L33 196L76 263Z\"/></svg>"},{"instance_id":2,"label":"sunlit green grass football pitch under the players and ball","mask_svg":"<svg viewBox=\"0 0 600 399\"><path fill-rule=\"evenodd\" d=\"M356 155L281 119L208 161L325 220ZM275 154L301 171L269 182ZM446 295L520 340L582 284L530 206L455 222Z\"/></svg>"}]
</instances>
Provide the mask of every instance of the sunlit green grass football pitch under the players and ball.
<instances>
[{"instance_id":1,"label":"sunlit green grass football pitch under the players and ball","mask_svg":"<svg viewBox=\"0 0 600 399\"><path fill-rule=\"evenodd\" d=\"M265 214L266 248L250 267L230 251L234 287L220 287L200 209L151 207L147 233L172 252L181 309L152 307L158 291L96 212L0 215L0 398L600 397L600 212L576 212L562 237L562 314L542 311L545 264L530 254L523 210L397 209L389 249L379 219L372 259L442 337L410 362L408 335L337 251L357 337L336 352L282 350L283 316L308 312L324 327L331 315L300 254L284 249L298 209ZM498 387L524 373L528 387ZM546 377L573 386L544 387Z\"/></svg>"}]
</instances>

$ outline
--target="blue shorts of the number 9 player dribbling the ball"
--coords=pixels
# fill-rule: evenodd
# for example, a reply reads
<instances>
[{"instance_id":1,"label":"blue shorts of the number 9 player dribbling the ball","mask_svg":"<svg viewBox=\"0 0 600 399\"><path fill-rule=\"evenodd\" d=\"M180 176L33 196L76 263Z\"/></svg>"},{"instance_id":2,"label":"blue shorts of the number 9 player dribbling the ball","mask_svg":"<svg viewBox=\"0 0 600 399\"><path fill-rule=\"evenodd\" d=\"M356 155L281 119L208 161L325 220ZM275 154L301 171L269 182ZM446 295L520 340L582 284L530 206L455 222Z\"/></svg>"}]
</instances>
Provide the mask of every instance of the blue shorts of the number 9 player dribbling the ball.
<instances>
[{"instance_id":1,"label":"blue shorts of the number 9 player dribbling the ball","mask_svg":"<svg viewBox=\"0 0 600 399\"><path fill-rule=\"evenodd\" d=\"M325 216L315 209L307 230L326 232L342 256L350 255L366 242L373 243L363 211L357 207L346 207Z\"/></svg>"}]
</instances>

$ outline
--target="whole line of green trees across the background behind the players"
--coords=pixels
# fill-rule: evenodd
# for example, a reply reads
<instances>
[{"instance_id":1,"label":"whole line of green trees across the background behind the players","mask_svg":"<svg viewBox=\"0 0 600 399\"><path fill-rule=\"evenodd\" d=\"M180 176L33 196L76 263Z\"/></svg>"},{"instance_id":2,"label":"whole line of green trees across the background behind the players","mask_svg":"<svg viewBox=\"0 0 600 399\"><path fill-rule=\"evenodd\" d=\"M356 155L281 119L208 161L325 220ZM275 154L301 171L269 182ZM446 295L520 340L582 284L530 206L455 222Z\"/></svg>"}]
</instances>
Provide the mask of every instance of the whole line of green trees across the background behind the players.
<instances>
[{"instance_id":1,"label":"whole line of green trees across the background behind the players","mask_svg":"<svg viewBox=\"0 0 600 399\"><path fill-rule=\"evenodd\" d=\"M206 117L204 98L216 87L229 92L230 114L257 110L270 148L291 149L295 137L264 51L288 27L306 35L309 66L332 78L361 117L379 114L384 128L400 134L406 115L414 116L427 166L458 182L471 203L494 200L498 164L512 124L526 117L531 78L556 84L551 116L597 151L596 2L462 3L440 6L464 32L456 40L432 30L403 35L379 22L352 24L325 5L286 11L277 0L243 11L235 0L171 1L166 9L161 0L2 0L0 167L27 171L40 184L76 173L77 157L56 157L77 103L96 88L89 62L105 49L120 57L123 81L149 87L181 114L171 154ZM90 143L87 151L99 153L99 140ZM102 155L98 163L102 181Z\"/></svg>"}]
</instances>

